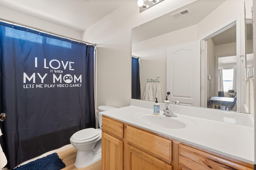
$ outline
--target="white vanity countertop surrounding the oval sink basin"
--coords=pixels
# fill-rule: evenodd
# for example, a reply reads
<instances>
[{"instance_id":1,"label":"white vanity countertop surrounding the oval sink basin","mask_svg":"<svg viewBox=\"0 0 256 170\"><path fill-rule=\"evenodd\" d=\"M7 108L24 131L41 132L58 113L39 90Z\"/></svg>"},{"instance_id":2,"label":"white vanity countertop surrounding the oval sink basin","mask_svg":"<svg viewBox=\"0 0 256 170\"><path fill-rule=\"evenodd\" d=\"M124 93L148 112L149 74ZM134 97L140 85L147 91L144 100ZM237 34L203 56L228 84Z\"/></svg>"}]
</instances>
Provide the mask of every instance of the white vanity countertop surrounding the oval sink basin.
<instances>
[{"instance_id":1,"label":"white vanity countertop surrounding the oval sink basin","mask_svg":"<svg viewBox=\"0 0 256 170\"><path fill-rule=\"evenodd\" d=\"M121 107L110 111L103 111L100 112L100 114L202 149L207 149L231 158L254 164L253 127L226 123L223 121L213 121L210 119L188 116L187 114L184 115L174 112L178 118L187 118L190 119L190 121L188 121L188 123L185 121L185 128L170 129L149 125L136 119L134 115L139 112L152 112L153 115L153 109L137 106ZM162 113L163 112L160 112L160 115L154 116L164 116ZM231 115L232 113L229 114ZM172 118L175 119L174 117Z\"/></svg>"}]
</instances>

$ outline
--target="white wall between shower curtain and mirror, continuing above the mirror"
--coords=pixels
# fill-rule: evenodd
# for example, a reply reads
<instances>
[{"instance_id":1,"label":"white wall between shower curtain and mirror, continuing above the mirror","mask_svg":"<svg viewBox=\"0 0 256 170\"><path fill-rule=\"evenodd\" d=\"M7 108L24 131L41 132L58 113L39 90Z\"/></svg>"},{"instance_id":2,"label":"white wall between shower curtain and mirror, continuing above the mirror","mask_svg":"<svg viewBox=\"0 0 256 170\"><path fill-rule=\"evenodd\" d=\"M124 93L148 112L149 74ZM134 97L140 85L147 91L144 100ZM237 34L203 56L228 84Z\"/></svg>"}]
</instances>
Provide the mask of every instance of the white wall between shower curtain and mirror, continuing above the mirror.
<instances>
[{"instance_id":1,"label":"white wall between shower curtain and mirror, continuing above the mirror","mask_svg":"<svg viewBox=\"0 0 256 170\"><path fill-rule=\"evenodd\" d=\"M140 13L137 0L128 0L84 31L83 40L98 44L97 106L130 104L132 28L194 1L165 0Z\"/></svg>"}]
</instances>

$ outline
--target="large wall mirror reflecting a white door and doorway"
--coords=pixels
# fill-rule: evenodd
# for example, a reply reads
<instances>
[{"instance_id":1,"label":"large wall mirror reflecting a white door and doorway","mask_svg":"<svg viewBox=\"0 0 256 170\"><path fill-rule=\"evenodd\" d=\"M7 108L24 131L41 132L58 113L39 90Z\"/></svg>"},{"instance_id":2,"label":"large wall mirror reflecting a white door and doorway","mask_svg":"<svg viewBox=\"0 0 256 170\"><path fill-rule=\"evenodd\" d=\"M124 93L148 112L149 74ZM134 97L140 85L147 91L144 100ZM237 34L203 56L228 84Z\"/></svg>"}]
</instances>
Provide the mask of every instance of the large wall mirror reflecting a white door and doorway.
<instances>
[{"instance_id":1,"label":"large wall mirror reflecting a white door and doorway","mask_svg":"<svg viewBox=\"0 0 256 170\"><path fill-rule=\"evenodd\" d=\"M253 113L248 6L252 0L197 0L134 27L132 98Z\"/></svg>"}]
</instances>

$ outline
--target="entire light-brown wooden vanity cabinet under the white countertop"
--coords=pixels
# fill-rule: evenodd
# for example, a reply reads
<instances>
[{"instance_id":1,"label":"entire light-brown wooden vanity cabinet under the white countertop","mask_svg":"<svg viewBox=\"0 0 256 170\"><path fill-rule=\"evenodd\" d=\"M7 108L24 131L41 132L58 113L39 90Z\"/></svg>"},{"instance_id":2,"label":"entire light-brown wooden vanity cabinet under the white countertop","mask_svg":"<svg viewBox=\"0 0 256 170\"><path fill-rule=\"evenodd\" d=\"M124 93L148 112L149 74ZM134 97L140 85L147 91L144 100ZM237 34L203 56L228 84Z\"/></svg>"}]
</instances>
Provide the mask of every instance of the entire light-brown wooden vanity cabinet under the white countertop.
<instances>
[{"instance_id":1,"label":"entire light-brown wooden vanity cabinet under the white countertop","mask_svg":"<svg viewBox=\"0 0 256 170\"><path fill-rule=\"evenodd\" d=\"M253 170L216 155L102 116L102 170Z\"/></svg>"}]
</instances>

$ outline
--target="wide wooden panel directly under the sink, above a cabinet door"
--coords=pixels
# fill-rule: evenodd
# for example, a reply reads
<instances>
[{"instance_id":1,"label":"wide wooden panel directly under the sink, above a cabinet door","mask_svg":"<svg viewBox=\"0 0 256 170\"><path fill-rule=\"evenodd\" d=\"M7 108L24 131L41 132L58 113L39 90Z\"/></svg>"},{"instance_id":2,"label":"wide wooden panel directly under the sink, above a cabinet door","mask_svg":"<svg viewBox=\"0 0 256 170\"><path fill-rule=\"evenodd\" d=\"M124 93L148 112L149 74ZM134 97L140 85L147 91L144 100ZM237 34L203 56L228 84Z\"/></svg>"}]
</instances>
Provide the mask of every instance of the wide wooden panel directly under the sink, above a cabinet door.
<instances>
[{"instance_id":1,"label":"wide wooden panel directly under the sink, above a cabinet door","mask_svg":"<svg viewBox=\"0 0 256 170\"><path fill-rule=\"evenodd\" d=\"M172 141L151 133L126 126L127 142L156 156L172 162Z\"/></svg>"}]
</instances>

